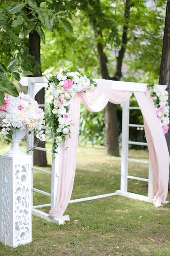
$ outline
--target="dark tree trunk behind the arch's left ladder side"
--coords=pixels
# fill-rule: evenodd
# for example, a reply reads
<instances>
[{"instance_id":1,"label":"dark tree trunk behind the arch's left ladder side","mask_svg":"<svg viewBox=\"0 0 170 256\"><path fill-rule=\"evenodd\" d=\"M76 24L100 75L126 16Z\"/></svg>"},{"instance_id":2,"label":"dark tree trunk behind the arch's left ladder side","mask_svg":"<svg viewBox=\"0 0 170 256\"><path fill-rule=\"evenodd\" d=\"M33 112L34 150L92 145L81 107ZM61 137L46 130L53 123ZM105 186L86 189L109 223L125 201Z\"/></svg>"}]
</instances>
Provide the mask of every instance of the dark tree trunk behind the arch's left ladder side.
<instances>
[{"instance_id":1,"label":"dark tree trunk behind the arch's left ladder side","mask_svg":"<svg viewBox=\"0 0 170 256\"><path fill-rule=\"evenodd\" d=\"M40 35L37 31L33 31L29 35L29 45L30 45L30 53L34 56L34 62L32 66L32 72L34 76L42 76L41 72L41 62L40 62ZM38 104L44 104L45 102L45 88L42 88L35 96L35 100ZM34 137L34 143L36 143L37 138ZM41 148L45 148L45 143L41 141L38 143L38 146ZM34 165L35 166L47 166L47 157L45 151L35 150L34 153Z\"/></svg>"}]
</instances>

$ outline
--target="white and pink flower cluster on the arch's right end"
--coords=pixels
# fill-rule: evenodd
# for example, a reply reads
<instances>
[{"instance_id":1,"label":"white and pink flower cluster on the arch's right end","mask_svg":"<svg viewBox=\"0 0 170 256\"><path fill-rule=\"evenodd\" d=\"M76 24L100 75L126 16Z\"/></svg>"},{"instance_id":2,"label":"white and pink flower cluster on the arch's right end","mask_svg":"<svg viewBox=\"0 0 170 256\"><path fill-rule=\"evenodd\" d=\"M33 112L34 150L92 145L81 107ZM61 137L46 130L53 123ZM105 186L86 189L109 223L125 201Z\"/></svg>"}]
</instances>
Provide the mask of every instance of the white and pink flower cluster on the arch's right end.
<instances>
[{"instance_id":1,"label":"white and pink flower cluster on the arch's right end","mask_svg":"<svg viewBox=\"0 0 170 256\"><path fill-rule=\"evenodd\" d=\"M159 85L148 84L148 90L150 91L150 96L153 97L153 101L155 104L156 114L159 118L159 122L163 129L164 134L167 133L169 129L169 103L168 103L168 92L164 90Z\"/></svg>"}]
</instances>

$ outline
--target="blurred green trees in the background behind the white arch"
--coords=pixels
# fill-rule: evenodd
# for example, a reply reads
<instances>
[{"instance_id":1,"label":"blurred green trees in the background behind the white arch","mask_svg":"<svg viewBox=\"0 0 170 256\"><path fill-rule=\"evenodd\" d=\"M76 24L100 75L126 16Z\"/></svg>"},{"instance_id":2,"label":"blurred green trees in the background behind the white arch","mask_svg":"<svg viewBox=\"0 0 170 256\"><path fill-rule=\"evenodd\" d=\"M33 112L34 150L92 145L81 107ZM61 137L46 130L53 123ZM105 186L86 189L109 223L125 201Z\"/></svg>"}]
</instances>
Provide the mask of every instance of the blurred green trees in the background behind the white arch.
<instances>
[{"instance_id":1,"label":"blurred green trees in the background behind the white arch","mask_svg":"<svg viewBox=\"0 0 170 256\"><path fill-rule=\"evenodd\" d=\"M158 83L165 3L156 1L155 8L148 9L142 0L112 4L106 0L79 0L79 11L76 9L72 17L74 35L66 34L61 27L51 34L46 32L47 41L42 45L43 70L48 73L60 69L81 70L94 78L119 80L122 77L124 81ZM87 111L82 114L84 120L88 119L86 123L82 120L80 131L86 140L93 137L94 141L103 143L95 134L103 138L103 128L107 128L106 152L109 154L119 153L121 111L117 106L118 132L115 111L116 106L109 104L106 115ZM102 120L97 123L98 130L89 134L89 130L94 131L97 119ZM141 137L139 132L135 134Z\"/></svg>"}]
</instances>

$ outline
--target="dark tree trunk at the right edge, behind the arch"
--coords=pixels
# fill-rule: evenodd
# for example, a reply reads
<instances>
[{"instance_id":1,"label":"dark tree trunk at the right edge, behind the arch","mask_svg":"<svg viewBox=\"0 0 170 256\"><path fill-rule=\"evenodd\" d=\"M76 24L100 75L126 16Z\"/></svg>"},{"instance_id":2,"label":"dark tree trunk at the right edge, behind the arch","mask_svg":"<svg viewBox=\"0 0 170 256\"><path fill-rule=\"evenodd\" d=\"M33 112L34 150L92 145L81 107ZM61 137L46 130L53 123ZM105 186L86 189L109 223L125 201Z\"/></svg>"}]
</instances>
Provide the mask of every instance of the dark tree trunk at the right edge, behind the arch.
<instances>
[{"instance_id":1,"label":"dark tree trunk at the right edge, behind the arch","mask_svg":"<svg viewBox=\"0 0 170 256\"><path fill-rule=\"evenodd\" d=\"M170 93L170 0L167 0L167 9L164 26L164 38L161 56L161 68L159 84L167 85L167 91ZM170 97L169 97L170 105ZM170 128L165 135L167 140L167 146L170 153ZM169 177L169 191L170 191L170 177Z\"/></svg>"}]
</instances>

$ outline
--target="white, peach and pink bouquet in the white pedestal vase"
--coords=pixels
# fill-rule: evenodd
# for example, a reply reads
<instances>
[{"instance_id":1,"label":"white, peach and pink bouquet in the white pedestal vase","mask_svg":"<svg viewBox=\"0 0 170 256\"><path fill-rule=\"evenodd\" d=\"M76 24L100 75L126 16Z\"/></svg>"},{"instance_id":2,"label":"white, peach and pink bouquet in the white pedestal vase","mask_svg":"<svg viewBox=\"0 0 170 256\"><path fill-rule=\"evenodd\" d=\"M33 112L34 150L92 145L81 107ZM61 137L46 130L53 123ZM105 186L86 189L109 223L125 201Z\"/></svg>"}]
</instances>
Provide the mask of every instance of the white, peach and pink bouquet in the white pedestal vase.
<instances>
[{"instance_id":1,"label":"white, peach and pink bouquet in the white pedestal vase","mask_svg":"<svg viewBox=\"0 0 170 256\"><path fill-rule=\"evenodd\" d=\"M44 115L38 103L28 95L20 93L15 98L6 94L5 103L0 107L0 135L12 139L15 129L26 129L26 134L33 133L38 140L45 141L42 130L45 125Z\"/></svg>"}]
</instances>

